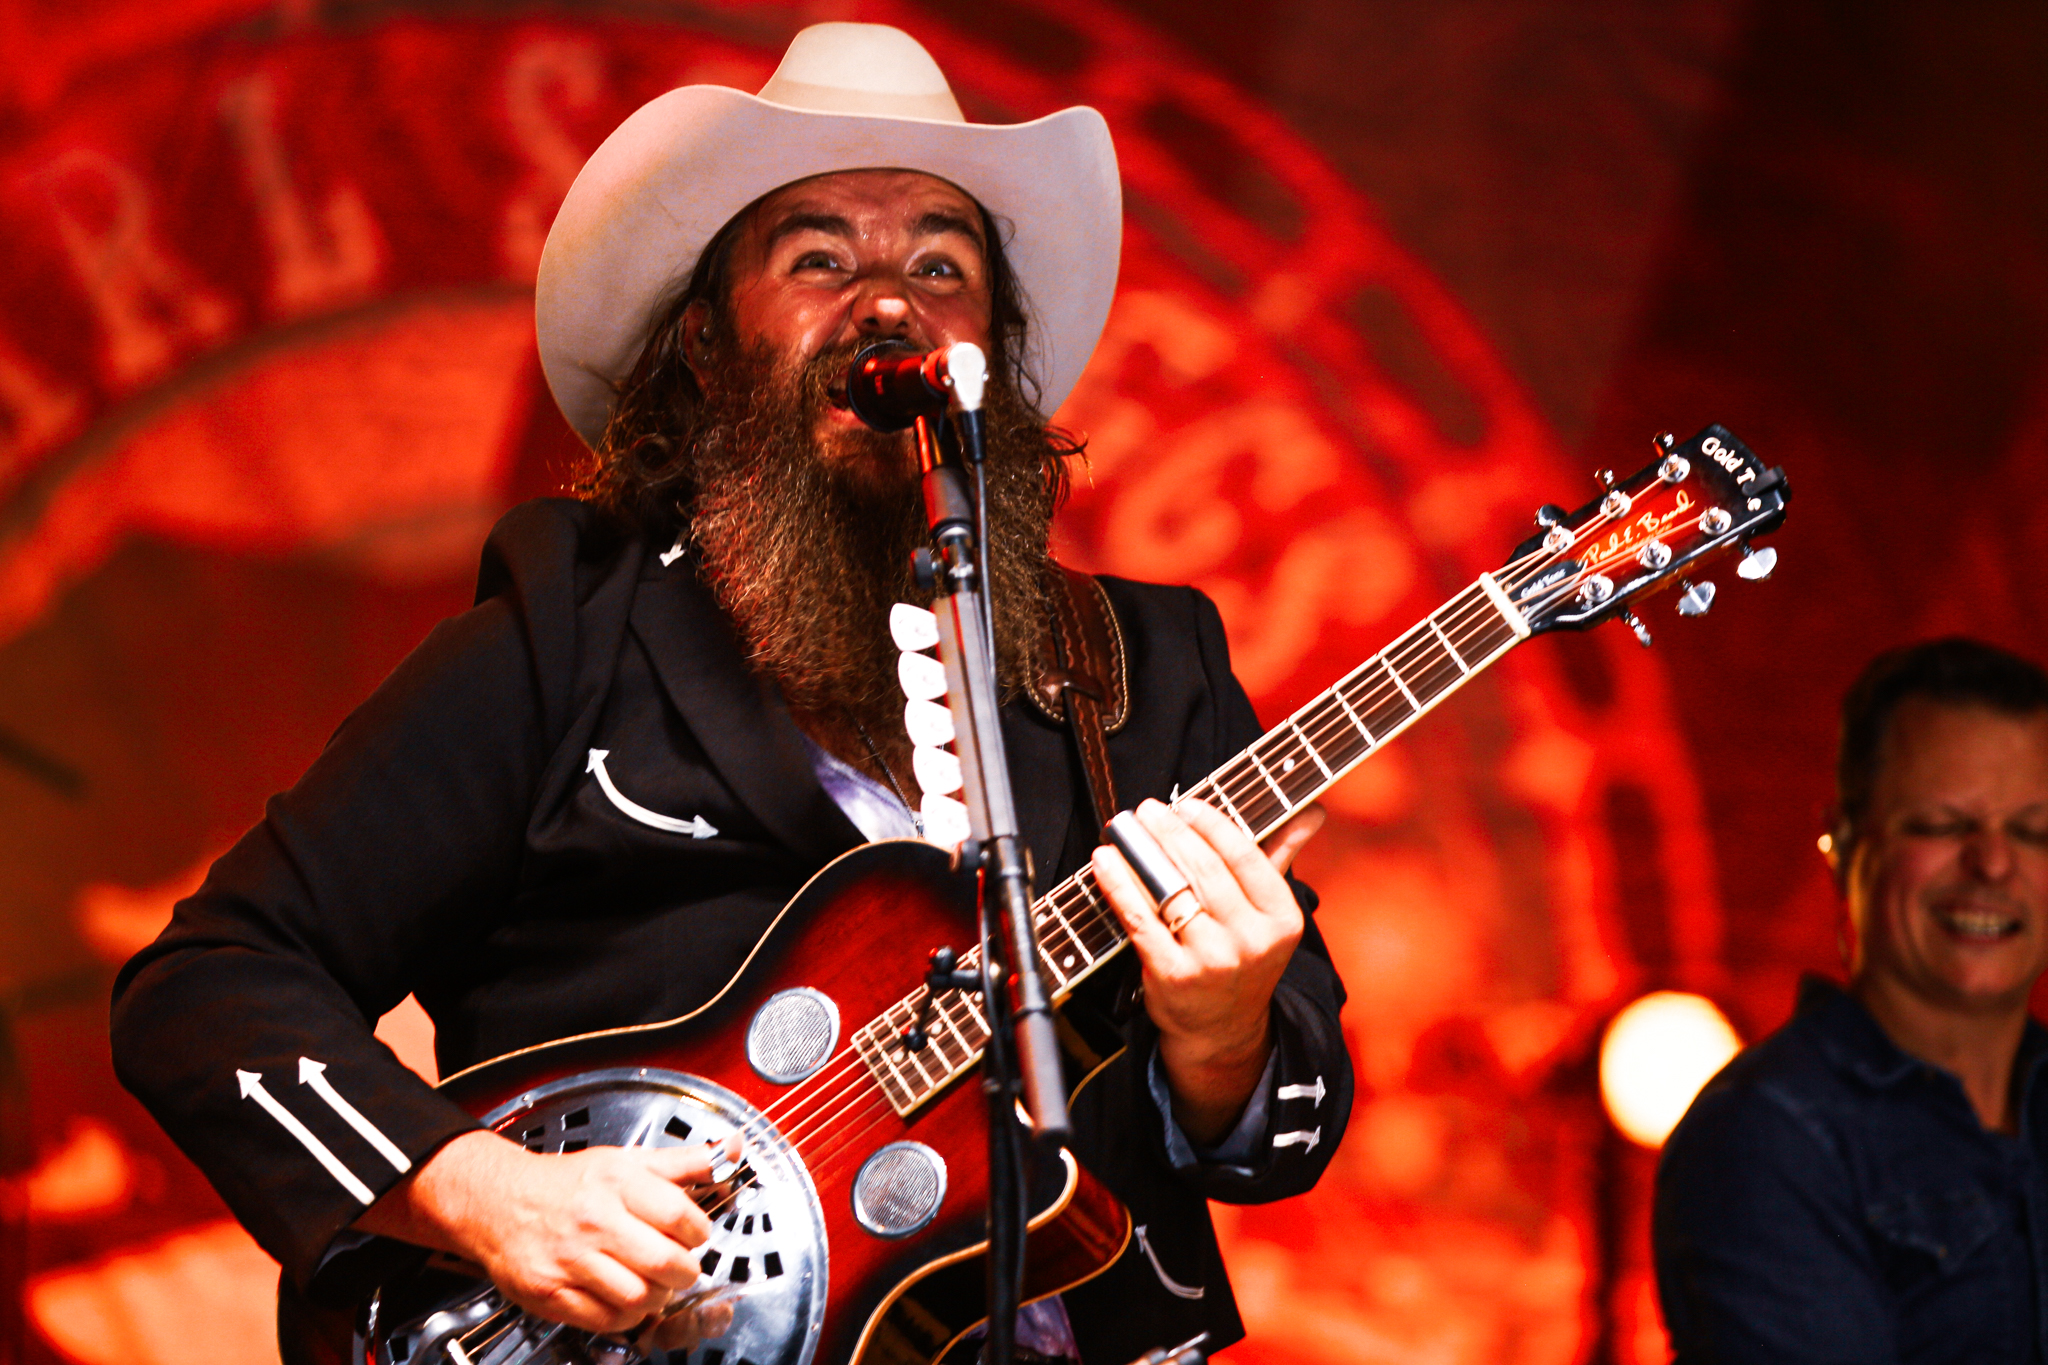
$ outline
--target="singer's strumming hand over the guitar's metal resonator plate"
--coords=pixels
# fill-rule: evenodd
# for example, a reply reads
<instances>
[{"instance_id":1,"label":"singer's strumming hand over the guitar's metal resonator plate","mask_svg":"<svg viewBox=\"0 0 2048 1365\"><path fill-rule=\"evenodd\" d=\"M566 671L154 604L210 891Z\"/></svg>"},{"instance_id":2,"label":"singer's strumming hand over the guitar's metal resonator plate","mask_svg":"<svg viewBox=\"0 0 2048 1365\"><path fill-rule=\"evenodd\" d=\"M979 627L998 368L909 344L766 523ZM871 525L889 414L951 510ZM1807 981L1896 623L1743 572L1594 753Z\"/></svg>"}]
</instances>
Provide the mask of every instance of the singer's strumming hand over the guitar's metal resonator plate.
<instances>
[{"instance_id":1,"label":"singer's strumming hand over the guitar's metal resonator plate","mask_svg":"<svg viewBox=\"0 0 2048 1365\"><path fill-rule=\"evenodd\" d=\"M356 1228L467 1257L520 1308L590 1332L631 1332L696 1283L715 1146L537 1154L463 1134L362 1212ZM737 1160L731 1138L725 1158ZM729 1304L664 1324L664 1345L717 1336Z\"/></svg>"}]
</instances>

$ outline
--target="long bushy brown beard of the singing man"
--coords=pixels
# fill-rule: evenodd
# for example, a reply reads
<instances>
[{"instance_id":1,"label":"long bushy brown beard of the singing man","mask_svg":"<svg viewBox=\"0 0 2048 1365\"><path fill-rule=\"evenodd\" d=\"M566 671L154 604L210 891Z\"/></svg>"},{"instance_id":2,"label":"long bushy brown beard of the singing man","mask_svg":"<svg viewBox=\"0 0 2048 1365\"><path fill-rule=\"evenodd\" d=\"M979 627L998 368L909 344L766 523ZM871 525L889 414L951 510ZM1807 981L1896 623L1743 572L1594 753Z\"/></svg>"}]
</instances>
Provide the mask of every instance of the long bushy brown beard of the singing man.
<instances>
[{"instance_id":1,"label":"long bushy brown beard of the singing man","mask_svg":"<svg viewBox=\"0 0 2048 1365\"><path fill-rule=\"evenodd\" d=\"M778 368L766 348L727 350L707 377L684 512L705 581L788 706L895 741L903 694L889 608L930 604L911 575L911 553L930 532L907 434L852 432L829 463L815 450L817 417L854 350L797 370ZM1008 385L991 385L985 411L995 653L1008 694L1030 684L1044 624L1051 446Z\"/></svg>"}]
</instances>

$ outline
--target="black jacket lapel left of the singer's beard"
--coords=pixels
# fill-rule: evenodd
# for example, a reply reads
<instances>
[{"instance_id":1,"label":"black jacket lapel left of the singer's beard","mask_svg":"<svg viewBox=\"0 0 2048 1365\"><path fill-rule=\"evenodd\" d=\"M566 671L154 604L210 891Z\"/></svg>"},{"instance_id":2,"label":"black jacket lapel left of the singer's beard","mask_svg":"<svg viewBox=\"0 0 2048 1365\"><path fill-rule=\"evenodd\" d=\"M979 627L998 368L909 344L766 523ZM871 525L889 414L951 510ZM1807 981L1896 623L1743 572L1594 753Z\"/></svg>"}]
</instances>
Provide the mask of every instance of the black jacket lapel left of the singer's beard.
<instances>
[{"instance_id":1,"label":"black jacket lapel left of the singer's beard","mask_svg":"<svg viewBox=\"0 0 2048 1365\"><path fill-rule=\"evenodd\" d=\"M788 708L748 667L731 620L688 559L653 569L641 585L633 634L719 776L776 839L813 862L862 841L819 786Z\"/></svg>"}]
</instances>

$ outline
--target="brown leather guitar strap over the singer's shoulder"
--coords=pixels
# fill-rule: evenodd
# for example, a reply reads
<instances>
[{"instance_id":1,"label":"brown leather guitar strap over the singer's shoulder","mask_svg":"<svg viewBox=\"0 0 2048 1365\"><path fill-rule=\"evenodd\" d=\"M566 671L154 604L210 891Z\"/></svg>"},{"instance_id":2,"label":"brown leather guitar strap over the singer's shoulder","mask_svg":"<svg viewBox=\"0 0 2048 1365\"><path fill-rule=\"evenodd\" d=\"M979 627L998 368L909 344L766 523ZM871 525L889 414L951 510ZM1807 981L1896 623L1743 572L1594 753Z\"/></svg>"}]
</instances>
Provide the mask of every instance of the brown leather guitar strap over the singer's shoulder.
<instances>
[{"instance_id":1,"label":"brown leather guitar strap over the singer's shoulder","mask_svg":"<svg viewBox=\"0 0 2048 1365\"><path fill-rule=\"evenodd\" d=\"M1096 829L1120 808L1116 778L1110 774L1108 737L1130 714L1130 686L1124 667L1124 634L1110 608L1110 596L1092 573L1051 565L1047 571L1047 649L1032 698L1073 737Z\"/></svg>"}]
</instances>

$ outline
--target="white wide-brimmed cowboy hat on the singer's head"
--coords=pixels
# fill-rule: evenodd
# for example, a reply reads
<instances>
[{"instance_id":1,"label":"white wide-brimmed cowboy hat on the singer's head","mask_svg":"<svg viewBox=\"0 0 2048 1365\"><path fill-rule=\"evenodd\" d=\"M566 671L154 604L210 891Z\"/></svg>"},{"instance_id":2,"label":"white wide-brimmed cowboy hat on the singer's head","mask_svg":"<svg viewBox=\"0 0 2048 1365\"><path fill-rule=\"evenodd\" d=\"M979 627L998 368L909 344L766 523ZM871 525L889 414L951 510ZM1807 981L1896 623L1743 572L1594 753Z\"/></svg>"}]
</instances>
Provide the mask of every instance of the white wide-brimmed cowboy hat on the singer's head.
<instances>
[{"instance_id":1,"label":"white wide-brimmed cowboy hat on the singer's head","mask_svg":"<svg viewBox=\"0 0 2048 1365\"><path fill-rule=\"evenodd\" d=\"M760 94L684 86L604 139L541 252L535 327L561 413L596 446L653 325L733 215L834 170L903 168L950 180L1008 223L1030 313L1020 360L1059 407L1102 336L1116 291L1122 190L1094 108L1032 123L967 123L932 53L901 29L813 25Z\"/></svg>"}]
</instances>

